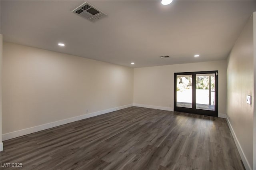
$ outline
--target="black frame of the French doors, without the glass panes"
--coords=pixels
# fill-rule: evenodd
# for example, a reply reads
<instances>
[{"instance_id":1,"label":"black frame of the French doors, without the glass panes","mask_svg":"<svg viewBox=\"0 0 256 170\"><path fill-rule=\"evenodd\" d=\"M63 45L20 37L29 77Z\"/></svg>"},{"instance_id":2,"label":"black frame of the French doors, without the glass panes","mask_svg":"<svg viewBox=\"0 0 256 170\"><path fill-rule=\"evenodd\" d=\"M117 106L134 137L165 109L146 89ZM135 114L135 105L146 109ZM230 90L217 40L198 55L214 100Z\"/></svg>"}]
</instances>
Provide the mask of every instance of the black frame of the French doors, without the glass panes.
<instances>
[{"instance_id":1,"label":"black frame of the French doors, without the glass panes","mask_svg":"<svg viewBox=\"0 0 256 170\"><path fill-rule=\"evenodd\" d=\"M215 108L214 108L214 111L196 109L196 75L197 74L210 74L210 73L214 73L214 75L215 75ZM176 99L177 75L192 75L192 108L177 107L177 99ZM174 111L218 117L218 71L196 71L196 72L174 73Z\"/></svg>"}]
</instances>

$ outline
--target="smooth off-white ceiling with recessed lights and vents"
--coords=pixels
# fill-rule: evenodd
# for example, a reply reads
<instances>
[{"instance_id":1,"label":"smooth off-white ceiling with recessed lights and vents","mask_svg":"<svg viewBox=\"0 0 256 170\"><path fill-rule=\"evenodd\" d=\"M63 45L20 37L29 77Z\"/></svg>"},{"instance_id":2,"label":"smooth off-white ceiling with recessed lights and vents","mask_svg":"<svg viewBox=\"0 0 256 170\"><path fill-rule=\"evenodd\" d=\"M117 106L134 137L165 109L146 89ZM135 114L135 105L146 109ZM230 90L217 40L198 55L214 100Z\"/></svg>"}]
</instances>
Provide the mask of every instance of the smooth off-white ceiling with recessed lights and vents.
<instances>
[{"instance_id":1,"label":"smooth off-white ceiling with recessed lights and vents","mask_svg":"<svg viewBox=\"0 0 256 170\"><path fill-rule=\"evenodd\" d=\"M228 57L256 11L252 0L88 1L108 15L93 23L71 12L84 2L1 0L4 41L128 67L213 61Z\"/></svg>"}]
</instances>

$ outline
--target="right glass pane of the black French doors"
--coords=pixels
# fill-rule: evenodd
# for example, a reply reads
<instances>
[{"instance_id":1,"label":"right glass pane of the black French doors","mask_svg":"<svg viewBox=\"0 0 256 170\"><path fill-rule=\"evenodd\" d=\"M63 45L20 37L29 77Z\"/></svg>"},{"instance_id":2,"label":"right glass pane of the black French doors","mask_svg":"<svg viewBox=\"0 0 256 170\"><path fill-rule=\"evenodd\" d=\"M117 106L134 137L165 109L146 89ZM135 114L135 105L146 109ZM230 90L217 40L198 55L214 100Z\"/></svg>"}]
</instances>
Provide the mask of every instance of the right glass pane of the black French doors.
<instances>
[{"instance_id":1,"label":"right glass pane of the black French doors","mask_svg":"<svg viewBox=\"0 0 256 170\"><path fill-rule=\"evenodd\" d=\"M196 75L196 109L215 110L215 74Z\"/></svg>"}]
</instances>

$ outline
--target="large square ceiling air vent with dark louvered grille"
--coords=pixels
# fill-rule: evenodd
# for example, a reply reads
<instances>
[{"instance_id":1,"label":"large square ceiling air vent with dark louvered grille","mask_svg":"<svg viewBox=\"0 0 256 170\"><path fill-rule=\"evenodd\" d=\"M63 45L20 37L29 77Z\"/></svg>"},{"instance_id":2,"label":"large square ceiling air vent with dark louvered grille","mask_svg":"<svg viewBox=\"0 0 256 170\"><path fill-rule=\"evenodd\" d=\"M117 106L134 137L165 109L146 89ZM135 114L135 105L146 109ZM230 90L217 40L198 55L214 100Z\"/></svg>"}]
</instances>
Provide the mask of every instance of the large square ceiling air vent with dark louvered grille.
<instances>
[{"instance_id":1,"label":"large square ceiling air vent with dark louvered grille","mask_svg":"<svg viewBox=\"0 0 256 170\"><path fill-rule=\"evenodd\" d=\"M93 22L107 15L88 2L84 2L84 4L78 6L72 12Z\"/></svg>"}]
</instances>

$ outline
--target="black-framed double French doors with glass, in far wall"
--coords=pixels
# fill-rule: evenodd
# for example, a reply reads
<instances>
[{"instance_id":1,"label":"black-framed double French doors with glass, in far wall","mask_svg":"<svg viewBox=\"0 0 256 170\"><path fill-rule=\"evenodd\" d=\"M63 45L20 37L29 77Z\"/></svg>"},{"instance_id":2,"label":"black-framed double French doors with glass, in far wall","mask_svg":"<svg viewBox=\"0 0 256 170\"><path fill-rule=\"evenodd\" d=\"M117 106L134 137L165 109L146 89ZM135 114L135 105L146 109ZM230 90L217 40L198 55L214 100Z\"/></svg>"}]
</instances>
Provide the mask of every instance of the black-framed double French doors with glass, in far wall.
<instances>
[{"instance_id":1,"label":"black-framed double French doors with glass, in far wall","mask_svg":"<svg viewBox=\"0 0 256 170\"><path fill-rule=\"evenodd\" d=\"M218 116L218 71L174 73L174 111Z\"/></svg>"}]
</instances>

